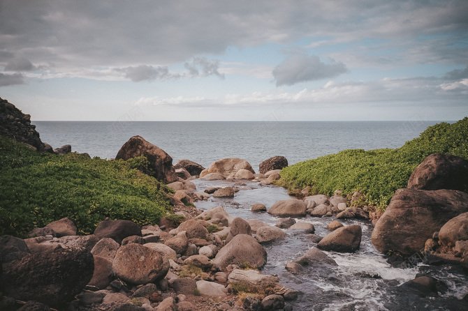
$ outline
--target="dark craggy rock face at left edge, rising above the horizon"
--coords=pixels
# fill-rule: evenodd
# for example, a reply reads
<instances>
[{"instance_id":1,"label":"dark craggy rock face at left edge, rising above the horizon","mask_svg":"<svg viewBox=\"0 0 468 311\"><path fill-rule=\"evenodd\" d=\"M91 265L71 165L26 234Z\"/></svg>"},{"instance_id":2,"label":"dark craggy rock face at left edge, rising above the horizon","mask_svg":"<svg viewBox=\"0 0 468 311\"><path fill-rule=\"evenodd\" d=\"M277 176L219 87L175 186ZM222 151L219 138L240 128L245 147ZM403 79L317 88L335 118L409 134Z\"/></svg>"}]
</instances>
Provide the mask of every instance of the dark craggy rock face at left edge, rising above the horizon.
<instances>
[{"instance_id":1,"label":"dark craggy rock face at left edge, rising above the horizon","mask_svg":"<svg viewBox=\"0 0 468 311\"><path fill-rule=\"evenodd\" d=\"M23 114L15 105L2 98L0 98L0 135L34 146L38 151L45 149L36 126L31 124L31 116Z\"/></svg>"}]
</instances>

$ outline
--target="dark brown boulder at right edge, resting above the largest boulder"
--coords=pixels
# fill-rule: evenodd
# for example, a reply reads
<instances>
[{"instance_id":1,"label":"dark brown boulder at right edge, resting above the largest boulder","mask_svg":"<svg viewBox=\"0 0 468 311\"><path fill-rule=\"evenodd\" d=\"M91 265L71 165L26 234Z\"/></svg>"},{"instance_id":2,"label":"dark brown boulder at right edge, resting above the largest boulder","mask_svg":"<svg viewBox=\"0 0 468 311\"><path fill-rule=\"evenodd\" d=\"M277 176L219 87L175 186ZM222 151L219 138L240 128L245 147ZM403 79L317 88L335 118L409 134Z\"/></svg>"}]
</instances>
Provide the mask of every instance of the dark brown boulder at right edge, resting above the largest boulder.
<instances>
[{"instance_id":1,"label":"dark brown boulder at right edge, resting above the largest boulder","mask_svg":"<svg viewBox=\"0 0 468 311\"><path fill-rule=\"evenodd\" d=\"M409 177L409 189L468 191L468 161L455 155L433 153Z\"/></svg>"}]
</instances>

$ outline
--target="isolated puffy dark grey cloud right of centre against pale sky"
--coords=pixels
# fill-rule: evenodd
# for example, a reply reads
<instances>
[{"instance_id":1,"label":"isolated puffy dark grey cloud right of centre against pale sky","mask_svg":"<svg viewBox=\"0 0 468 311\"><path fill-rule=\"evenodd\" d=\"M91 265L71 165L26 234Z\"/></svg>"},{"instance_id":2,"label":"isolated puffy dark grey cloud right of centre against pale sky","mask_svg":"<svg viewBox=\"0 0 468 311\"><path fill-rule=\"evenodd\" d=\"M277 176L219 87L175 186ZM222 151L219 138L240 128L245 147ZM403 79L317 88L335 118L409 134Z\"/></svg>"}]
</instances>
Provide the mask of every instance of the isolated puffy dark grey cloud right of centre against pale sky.
<instances>
[{"instance_id":1,"label":"isolated puffy dark grey cloud right of centre against pale sky","mask_svg":"<svg viewBox=\"0 0 468 311\"><path fill-rule=\"evenodd\" d=\"M333 60L330 63L323 63L319 56L295 53L276 66L272 74L276 85L280 86L337 77L346 71L344 63Z\"/></svg>"}]
</instances>

